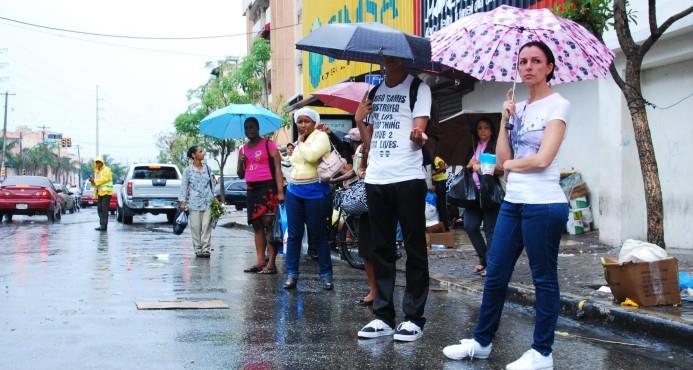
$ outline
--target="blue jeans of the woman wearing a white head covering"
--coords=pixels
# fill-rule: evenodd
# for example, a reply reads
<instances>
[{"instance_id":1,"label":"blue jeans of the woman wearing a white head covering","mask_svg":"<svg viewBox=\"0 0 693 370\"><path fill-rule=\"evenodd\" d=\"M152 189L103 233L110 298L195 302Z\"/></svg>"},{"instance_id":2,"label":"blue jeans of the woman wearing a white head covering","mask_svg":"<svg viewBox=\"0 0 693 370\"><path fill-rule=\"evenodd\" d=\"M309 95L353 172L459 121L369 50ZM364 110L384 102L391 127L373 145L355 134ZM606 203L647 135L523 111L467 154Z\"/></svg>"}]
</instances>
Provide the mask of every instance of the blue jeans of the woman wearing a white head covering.
<instances>
[{"instance_id":1,"label":"blue jeans of the woman wearing a white head covering","mask_svg":"<svg viewBox=\"0 0 693 370\"><path fill-rule=\"evenodd\" d=\"M332 209L329 196L318 199L298 197L286 193L286 217L289 239L286 245L285 269L290 278L298 278L298 260L301 256L301 241L304 225L308 227L308 243L318 250L320 279L332 281L332 256L327 245L327 217Z\"/></svg>"}]
</instances>

